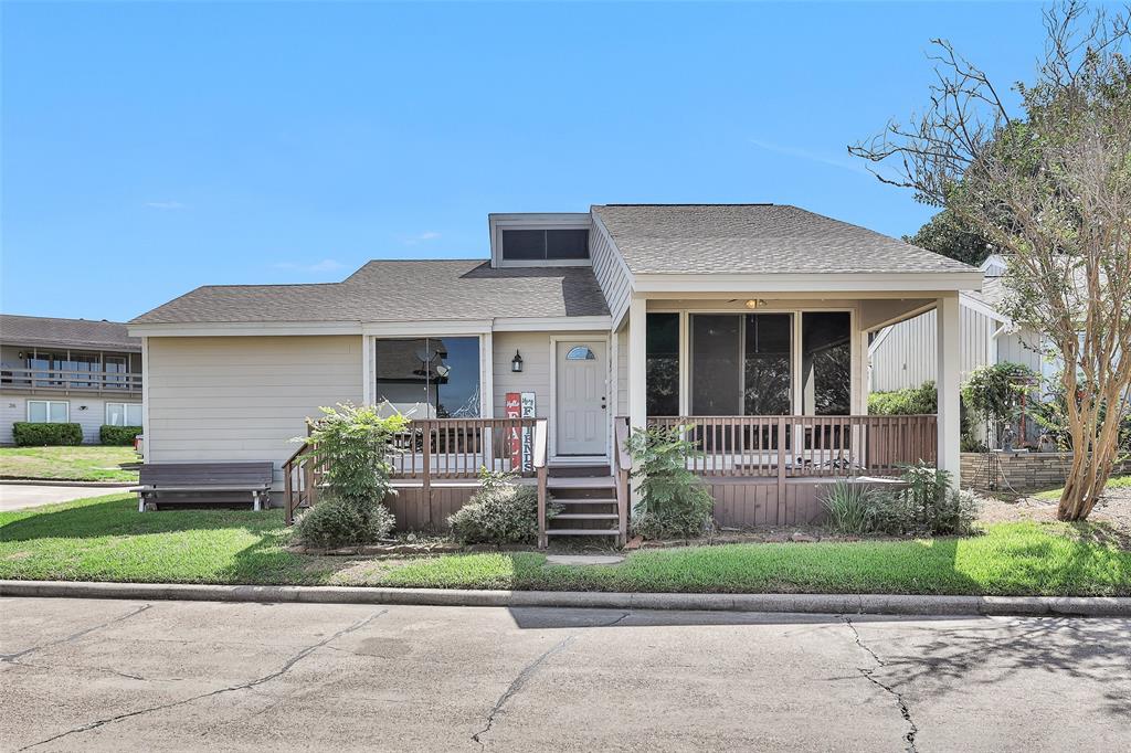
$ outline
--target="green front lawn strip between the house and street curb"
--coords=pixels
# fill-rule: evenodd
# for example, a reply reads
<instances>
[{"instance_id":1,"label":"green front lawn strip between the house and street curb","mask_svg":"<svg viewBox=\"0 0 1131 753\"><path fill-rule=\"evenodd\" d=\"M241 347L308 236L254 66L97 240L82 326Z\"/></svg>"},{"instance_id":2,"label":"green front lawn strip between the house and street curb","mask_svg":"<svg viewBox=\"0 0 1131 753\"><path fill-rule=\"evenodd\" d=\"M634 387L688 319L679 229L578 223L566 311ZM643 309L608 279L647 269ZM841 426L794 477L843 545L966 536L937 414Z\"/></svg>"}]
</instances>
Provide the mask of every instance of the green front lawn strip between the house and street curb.
<instances>
[{"instance_id":1,"label":"green front lawn strip between the house and street curb","mask_svg":"<svg viewBox=\"0 0 1131 753\"><path fill-rule=\"evenodd\" d=\"M0 578L549 590L1131 595L1131 552L1089 523L1000 523L973 538L648 549L612 566L536 553L407 562L286 549L278 510L138 513L103 496L0 513Z\"/></svg>"}]
</instances>

